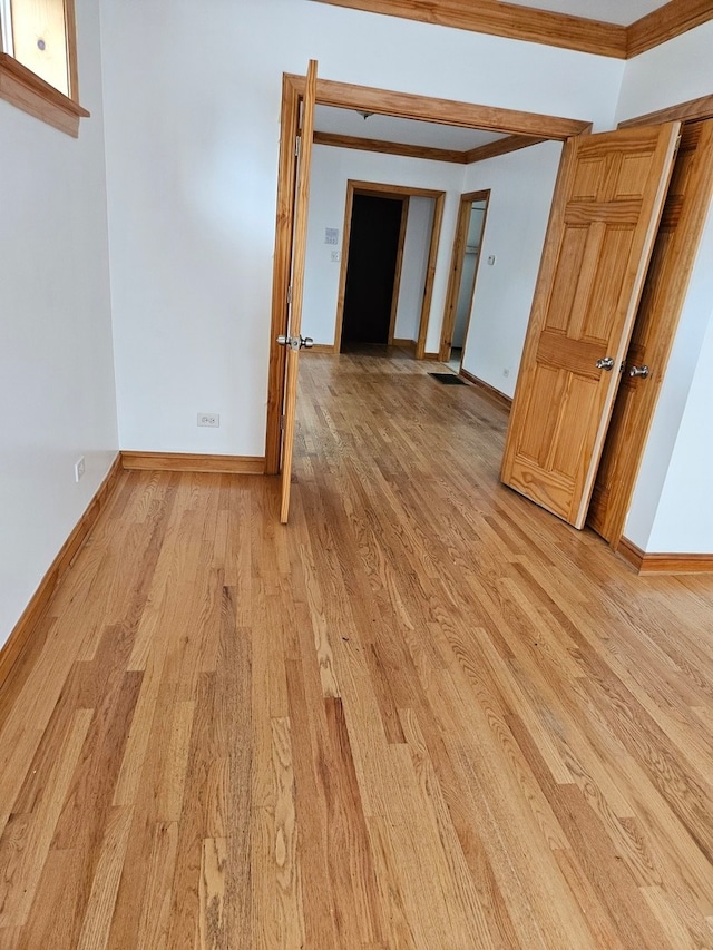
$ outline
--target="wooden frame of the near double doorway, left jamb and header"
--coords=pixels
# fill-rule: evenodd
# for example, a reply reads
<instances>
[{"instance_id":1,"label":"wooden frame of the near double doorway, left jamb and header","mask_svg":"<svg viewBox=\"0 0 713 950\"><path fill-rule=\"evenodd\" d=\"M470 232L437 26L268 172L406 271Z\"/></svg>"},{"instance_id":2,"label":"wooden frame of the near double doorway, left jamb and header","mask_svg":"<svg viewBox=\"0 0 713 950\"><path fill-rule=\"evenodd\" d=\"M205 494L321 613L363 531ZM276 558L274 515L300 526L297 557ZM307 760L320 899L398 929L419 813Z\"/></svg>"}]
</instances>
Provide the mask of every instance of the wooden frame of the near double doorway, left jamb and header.
<instances>
[{"instance_id":1,"label":"wooden frame of the near double doorway, left jamb and header","mask_svg":"<svg viewBox=\"0 0 713 950\"><path fill-rule=\"evenodd\" d=\"M267 371L265 431L265 472L267 474L279 472L281 461L280 419L284 395L285 352L276 340L281 333L286 333L287 330L287 288L290 286L294 215L294 141L299 129L300 100L304 95L304 76L283 75ZM524 112L517 109L498 109L492 106L479 106L452 99L436 99L429 96L333 82L328 79L318 79L316 102L323 106L363 109L364 111L398 118L421 119L439 125L486 129L506 135L527 135L557 141L564 141L570 136L580 135L592 129L592 123L580 119Z\"/></svg>"}]
</instances>

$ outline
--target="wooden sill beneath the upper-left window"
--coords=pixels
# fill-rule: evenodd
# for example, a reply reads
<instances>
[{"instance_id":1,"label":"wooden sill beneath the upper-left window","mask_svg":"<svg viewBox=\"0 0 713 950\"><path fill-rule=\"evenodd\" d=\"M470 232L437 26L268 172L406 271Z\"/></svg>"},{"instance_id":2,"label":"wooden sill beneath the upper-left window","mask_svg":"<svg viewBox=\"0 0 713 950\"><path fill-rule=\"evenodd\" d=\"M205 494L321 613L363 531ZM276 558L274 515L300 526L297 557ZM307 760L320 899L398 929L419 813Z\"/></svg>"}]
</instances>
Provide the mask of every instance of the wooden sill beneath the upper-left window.
<instances>
[{"instance_id":1,"label":"wooden sill beneath the upper-left window","mask_svg":"<svg viewBox=\"0 0 713 950\"><path fill-rule=\"evenodd\" d=\"M89 112L17 59L0 52L0 99L4 99L56 129L79 136L79 119Z\"/></svg>"}]
</instances>

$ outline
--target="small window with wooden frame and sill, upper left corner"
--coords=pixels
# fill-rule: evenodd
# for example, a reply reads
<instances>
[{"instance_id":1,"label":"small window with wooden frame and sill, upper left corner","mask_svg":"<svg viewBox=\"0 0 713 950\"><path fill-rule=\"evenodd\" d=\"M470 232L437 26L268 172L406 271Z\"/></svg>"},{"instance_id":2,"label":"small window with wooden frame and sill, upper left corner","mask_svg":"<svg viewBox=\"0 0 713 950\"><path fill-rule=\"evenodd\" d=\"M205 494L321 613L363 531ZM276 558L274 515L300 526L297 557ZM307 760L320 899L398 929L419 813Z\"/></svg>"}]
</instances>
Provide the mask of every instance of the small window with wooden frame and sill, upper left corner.
<instances>
[{"instance_id":1,"label":"small window with wooden frame and sill, upper left corner","mask_svg":"<svg viewBox=\"0 0 713 950\"><path fill-rule=\"evenodd\" d=\"M0 97L77 136L74 0L0 0Z\"/></svg>"}]
</instances>

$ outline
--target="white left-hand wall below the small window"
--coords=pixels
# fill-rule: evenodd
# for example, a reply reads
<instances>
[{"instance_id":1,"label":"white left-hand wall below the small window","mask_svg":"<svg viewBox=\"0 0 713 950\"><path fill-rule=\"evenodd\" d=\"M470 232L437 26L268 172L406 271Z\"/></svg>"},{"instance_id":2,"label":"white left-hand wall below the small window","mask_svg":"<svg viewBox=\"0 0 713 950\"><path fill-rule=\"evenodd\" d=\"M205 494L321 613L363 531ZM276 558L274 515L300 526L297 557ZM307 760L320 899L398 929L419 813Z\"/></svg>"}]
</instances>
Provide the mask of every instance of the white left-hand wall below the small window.
<instances>
[{"instance_id":1,"label":"white left-hand wall below the small window","mask_svg":"<svg viewBox=\"0 0 713 950\"><path fill-rule=\"evenodd\" d=\"M79 139L0 101L0 645L118 444L99 14L77 14Z\"/></svg>"}]
</instances>

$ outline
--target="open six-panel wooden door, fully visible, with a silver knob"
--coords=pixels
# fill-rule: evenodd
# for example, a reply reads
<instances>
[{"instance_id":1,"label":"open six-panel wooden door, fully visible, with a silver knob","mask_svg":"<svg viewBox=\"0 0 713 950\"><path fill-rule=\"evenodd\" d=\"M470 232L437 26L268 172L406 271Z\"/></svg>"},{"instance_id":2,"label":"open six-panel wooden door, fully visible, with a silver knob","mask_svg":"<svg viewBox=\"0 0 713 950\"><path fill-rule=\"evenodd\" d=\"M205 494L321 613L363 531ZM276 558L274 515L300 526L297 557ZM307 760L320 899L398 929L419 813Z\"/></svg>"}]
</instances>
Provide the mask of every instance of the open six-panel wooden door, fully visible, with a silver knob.
<instances>
[{"instance_id":1,"label":"open six-panel wooden door, fully visible, with a silver knob","mask_svg":"<svg viewBox=\"0 0 713 950\"><path fill-rule=\"evenodd\" d=\"M678 123L565 146L501 478L582 528L678 138Z\"/></svg>"}]
</instances>

